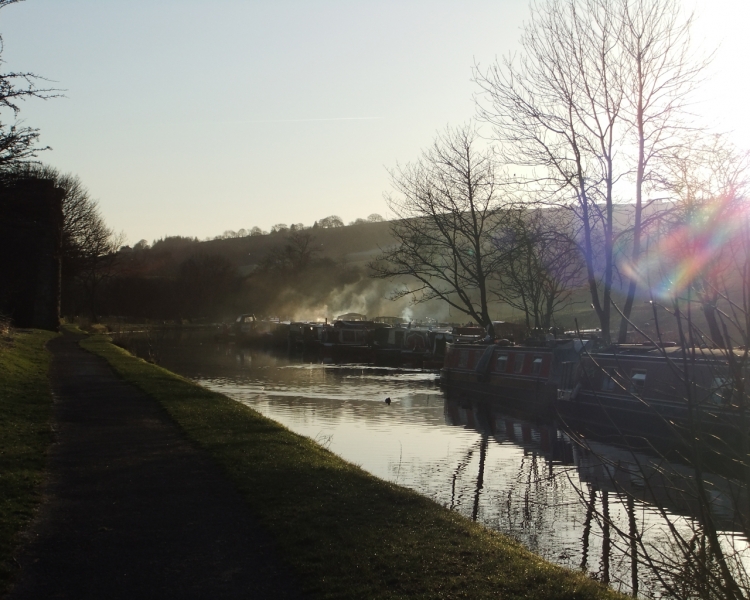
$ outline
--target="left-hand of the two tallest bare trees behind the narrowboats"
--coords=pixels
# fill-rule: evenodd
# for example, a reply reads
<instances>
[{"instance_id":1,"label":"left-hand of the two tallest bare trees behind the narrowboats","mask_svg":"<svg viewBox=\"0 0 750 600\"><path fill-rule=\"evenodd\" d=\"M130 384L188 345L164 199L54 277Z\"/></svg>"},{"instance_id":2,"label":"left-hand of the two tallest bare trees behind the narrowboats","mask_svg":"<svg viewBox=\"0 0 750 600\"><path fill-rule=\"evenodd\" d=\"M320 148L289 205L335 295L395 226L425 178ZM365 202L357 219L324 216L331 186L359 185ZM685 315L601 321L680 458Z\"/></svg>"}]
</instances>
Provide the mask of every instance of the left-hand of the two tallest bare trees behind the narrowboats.
<instances>
[{"instance_id":1,"label":"left-hand of the two tallest bare trees behind the narrowboats","mask_svg":"<svg viewBox=\"0 0 750 600\"><path fill-rule=\"evenodd\" d=\"M607 0L549 0L533 8L518 61L495 63L476 79L488 102L501 156L521 168L551 203L570 203L581 224L591 301L609 339L614 276L614 186L626 65L621 23ZM601 247L596 246L597 239ZM601 261L597 259L601 259Z\"/></svg>"}]
</instances>

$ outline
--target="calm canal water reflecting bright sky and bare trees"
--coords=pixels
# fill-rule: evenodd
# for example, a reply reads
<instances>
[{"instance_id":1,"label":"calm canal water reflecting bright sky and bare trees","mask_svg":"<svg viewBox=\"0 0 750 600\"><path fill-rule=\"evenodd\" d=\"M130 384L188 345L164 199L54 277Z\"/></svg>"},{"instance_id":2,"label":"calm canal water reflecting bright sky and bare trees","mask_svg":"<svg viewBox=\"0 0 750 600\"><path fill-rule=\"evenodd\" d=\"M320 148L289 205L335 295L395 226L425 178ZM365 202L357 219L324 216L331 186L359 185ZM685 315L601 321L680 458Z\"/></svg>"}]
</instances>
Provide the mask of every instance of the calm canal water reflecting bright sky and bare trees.
<instances>
[{"instance_id":1,"label":"calm canal water reflecting bright sky and bare trees","mask_svg":"<svg viewBox=\"0 0 750 600\"><path fill-rule=\"evenodd\" d=\"M117 341L615 589L661 597L665 582L694 585L705 532L685 467L582 445L554 423L506 414L502 402L448 397L434 371L305 362L199 331ZM706 485L724 558L747 592L746 499L721 477Z\"/></svg>"}]
</instances>

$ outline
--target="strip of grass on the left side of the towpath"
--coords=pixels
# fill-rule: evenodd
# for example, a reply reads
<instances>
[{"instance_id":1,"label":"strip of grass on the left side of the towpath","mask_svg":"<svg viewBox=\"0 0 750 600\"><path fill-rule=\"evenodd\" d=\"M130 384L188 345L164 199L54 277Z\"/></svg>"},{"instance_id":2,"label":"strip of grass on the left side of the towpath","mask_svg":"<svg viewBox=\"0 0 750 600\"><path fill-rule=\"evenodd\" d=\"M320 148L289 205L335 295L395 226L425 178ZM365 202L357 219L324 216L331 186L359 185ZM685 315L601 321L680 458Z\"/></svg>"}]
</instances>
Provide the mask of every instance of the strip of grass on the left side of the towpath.
<instances>
[{"instance_id":1,"label":"strip of grass on the left side of the towpath","mask_svg":"<svg viewBox=\"0 0 750 600\"><path fill-rule=\"evenodd\" d=\"M0 595L16 571L18 532L40 500L52 442L45 344L54 336L22 331L0 338Z\"/></svg>"}]
</instances>

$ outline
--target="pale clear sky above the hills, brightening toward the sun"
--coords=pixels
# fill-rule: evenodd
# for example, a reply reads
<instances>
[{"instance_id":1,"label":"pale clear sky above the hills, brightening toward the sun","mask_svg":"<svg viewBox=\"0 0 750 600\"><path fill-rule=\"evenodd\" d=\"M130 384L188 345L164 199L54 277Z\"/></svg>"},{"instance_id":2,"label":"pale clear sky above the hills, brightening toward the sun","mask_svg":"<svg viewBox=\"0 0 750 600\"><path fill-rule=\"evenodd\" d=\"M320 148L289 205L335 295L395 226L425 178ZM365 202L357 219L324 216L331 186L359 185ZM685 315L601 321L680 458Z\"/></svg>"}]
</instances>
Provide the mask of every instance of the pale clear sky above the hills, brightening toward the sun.
<instances>
[{"instance_id":1,"label":"pale clear sky above the hills, brightening toward the sun","mask_svg":"<svg viewBox=\"0 0 750 600\"><path fill-rule=\"evenodd\" d=\"M750 148L750 2L694 0L716 50L695 112ZM64 90L24 124L128 242L388 217L388 169L475 115L472 65L518 51L526 0L25 0L4 71Z\"/></svg>"}]
</instances>

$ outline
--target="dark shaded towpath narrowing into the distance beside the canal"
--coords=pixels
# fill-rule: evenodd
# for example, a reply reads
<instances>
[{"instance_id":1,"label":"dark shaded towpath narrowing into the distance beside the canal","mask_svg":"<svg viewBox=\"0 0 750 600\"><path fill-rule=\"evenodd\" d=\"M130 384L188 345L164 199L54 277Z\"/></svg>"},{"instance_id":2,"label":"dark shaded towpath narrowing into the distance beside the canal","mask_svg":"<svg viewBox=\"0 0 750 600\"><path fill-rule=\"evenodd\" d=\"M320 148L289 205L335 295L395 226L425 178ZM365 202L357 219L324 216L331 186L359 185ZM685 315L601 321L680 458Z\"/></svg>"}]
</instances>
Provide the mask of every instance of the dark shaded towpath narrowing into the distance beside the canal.
<instances>
[{"instance_id":1,"label":"dark shaded towpath narrowing into the distance beside the canal","mask_svg":"<svg viewBox=\"0 0 750 600\"><path fill-rule=\"evenodd\" d=\"M151 398L65 334L57 429L8 598L302 598L239 493Z\"/></svg>"}]
</instances>

